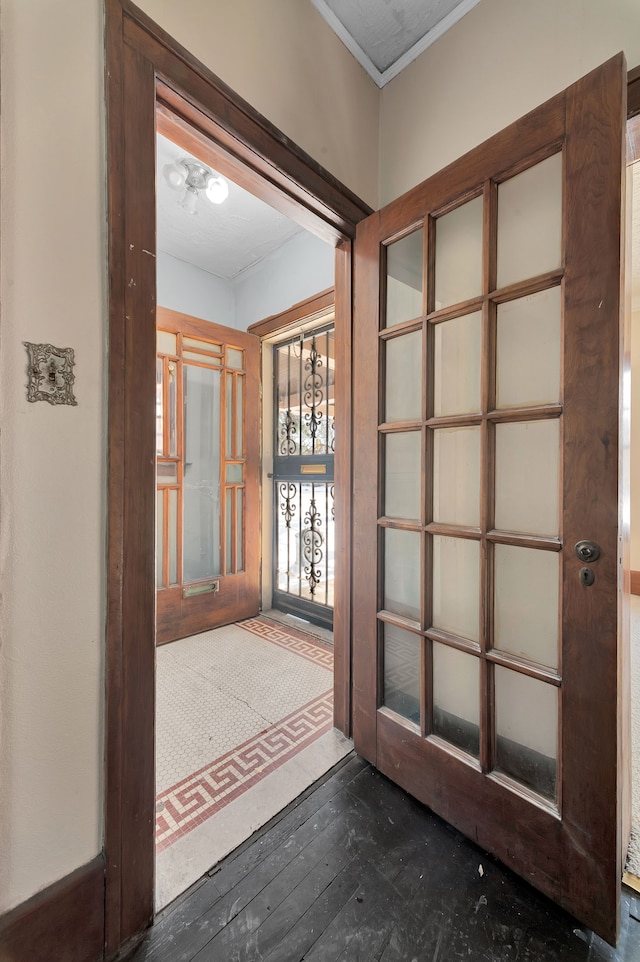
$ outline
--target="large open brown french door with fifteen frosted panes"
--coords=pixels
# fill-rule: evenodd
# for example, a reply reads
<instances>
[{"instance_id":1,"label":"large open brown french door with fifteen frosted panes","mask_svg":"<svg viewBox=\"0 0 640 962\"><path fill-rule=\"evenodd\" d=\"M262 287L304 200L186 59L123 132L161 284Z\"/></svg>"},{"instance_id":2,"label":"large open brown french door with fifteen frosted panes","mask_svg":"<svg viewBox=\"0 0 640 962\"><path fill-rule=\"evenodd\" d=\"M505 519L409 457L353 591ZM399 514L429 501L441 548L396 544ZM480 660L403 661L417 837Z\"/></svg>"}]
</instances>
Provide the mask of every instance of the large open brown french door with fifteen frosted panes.
<instances>
[{"instance_id":1,"label":"large open brown french door with fifteen frosted panes","mask_svg":"<svg viewBox=\"0 0 640 962\"><path fill-rule=\"evenodd\" d=\"M355 262L356 748L609 941L625 85L371 215Z\"/></svg>"}]
</instances>

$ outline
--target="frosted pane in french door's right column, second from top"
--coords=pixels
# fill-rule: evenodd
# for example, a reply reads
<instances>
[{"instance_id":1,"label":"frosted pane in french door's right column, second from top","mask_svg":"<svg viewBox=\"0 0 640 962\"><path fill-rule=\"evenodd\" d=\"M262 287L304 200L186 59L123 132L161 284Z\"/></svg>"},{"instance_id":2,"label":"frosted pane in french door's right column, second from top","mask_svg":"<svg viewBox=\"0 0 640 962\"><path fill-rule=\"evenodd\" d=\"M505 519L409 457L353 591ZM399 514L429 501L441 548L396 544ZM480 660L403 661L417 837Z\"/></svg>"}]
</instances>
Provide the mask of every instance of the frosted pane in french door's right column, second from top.
<instances>
[{"instance_id":1,"label":"frosted pane in french door's right column, second from top","mask_svg":"<svg viewBox=\"0 0 640 962\"><path fill-rule=\"evenodd\" d=\"M496 406L560 400L560 288L498 304Z\"/></svg>"}]
</instances>

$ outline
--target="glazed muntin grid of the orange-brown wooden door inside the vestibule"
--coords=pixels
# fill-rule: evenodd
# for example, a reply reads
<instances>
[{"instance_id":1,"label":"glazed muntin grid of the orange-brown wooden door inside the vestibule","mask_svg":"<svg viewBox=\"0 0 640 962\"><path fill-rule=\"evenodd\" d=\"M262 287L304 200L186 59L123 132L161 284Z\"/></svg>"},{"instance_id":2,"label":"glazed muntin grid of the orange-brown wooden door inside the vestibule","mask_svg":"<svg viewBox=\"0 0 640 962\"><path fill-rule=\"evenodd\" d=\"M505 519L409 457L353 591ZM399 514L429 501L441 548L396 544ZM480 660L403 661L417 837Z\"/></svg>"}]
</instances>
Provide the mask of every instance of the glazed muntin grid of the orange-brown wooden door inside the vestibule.
<instances>
[{"instance_id":1,"label":"glazed muntin grid of the orange-brown wooden door inside the vestibule","mask_svg":"<svg viewBox=\"0 0 640 962\"><path fill-rule=\"evenodd\" d=\"M245 569L244 364L242 349L157 330L158 590Z\"/></svg>"}]
</instances>

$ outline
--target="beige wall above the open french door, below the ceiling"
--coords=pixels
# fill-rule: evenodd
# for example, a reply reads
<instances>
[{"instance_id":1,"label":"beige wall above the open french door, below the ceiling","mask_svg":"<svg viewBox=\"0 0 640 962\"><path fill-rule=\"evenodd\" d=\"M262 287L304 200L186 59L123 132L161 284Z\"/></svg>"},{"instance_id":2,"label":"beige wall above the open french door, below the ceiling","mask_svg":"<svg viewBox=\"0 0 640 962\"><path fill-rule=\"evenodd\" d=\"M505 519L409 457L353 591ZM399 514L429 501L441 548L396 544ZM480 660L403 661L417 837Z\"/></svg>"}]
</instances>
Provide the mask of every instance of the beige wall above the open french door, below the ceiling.
<instances>
[{"instance_id":1,"label":"beige wall above the open french door, below the ceiling","mask_svg":"<svg viewBox=\"0 0 640 962\"><path fill-rule=\"evenodd\" d=\"M482 0L383 89L381 202L620 50L640 63L638 0Z\"/></svg>"}]
</instances>

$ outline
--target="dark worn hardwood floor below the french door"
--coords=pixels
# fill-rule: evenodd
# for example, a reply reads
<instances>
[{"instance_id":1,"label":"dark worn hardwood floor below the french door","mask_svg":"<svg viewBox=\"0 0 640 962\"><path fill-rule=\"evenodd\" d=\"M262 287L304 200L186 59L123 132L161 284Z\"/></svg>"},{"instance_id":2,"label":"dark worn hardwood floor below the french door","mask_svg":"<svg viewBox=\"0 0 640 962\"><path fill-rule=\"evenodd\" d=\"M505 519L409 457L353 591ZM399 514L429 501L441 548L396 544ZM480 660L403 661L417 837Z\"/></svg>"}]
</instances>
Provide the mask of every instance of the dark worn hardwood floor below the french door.
<instances>
[{"instance_id":1,"label":"dark worn hardwood floor below the french door","mask_svg":"<svg viewBox=\"0 0 640 962\"><path fill-rule=\"evenodd\" d=\"M355 755L158 918L132 962L640 962Z\"/></svg>"}]
</instances>

